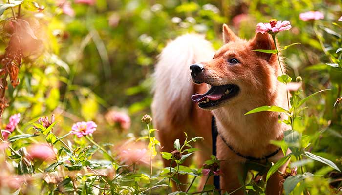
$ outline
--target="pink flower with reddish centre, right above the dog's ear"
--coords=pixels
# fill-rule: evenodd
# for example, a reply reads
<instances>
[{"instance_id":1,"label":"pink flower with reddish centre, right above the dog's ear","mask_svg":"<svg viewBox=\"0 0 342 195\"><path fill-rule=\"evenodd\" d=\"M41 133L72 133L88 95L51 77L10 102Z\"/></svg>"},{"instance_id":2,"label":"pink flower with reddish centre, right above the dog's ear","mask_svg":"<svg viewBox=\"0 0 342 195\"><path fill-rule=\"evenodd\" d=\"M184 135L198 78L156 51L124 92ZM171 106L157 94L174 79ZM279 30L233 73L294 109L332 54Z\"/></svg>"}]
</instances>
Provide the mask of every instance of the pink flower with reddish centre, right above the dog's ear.
<instances>
[{"instance_id":1,"label":"pink flower with reddish centre, right above the dog's ear","mask_svg":"<svg viewBox=\"0 0 342 195\"><path fill-rule=\"evenodd\" d=\"M286 31L292 28L289 21L277 21L276 19L270 20L269 23L258 23L256 25L256 33L270 33L276 34L281 31Z\"/></svg>"}]
</instances>

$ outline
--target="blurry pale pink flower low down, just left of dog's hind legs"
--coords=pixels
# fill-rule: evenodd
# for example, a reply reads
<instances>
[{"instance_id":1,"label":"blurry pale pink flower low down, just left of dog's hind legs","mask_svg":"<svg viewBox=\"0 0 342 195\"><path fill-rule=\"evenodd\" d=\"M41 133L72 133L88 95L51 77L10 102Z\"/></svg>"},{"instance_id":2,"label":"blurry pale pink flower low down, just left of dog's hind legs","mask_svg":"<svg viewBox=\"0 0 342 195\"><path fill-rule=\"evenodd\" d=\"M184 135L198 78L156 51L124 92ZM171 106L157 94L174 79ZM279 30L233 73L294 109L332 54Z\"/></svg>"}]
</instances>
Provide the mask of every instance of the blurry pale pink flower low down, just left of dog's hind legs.
<instances>
[{"instance_id":1,"label":"blurry pale pink flower low down, just left of dog's hind legs","mask_svg":"<svg viewBox=\"0 0 342 195\"><path fill-rule=\"evenodd\" d=\"M119 158L126 164L148 164L148 150L143 144L135 143L121 147Z\"/></svg>"}]
</instances>

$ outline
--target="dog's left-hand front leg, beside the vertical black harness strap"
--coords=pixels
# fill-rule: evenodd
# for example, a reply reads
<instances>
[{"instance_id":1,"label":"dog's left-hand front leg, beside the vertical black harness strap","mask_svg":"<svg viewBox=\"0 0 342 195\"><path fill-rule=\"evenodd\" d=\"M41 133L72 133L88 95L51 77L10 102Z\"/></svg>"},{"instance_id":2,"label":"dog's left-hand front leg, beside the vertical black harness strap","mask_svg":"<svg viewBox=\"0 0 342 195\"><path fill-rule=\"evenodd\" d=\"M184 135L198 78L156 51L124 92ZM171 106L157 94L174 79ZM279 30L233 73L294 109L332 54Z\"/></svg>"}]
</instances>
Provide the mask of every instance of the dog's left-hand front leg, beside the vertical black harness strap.
<instances>
[{"instance_id":1,"label":"dog's left-hand front leg, beside the vertical black harness strap","mask_svg":"<svg viewBox=\"0 0 342 195\"><path fill-rule=\"evenodd\" d=\"M235 155L222 141L217 139L217 158L220 162L220 188L228 193L235 191L232 195L244 195L245 171L244 164L239 160L239 156ZM241 188L237 190L238 188Z\"/></svg>"}]
</instances>

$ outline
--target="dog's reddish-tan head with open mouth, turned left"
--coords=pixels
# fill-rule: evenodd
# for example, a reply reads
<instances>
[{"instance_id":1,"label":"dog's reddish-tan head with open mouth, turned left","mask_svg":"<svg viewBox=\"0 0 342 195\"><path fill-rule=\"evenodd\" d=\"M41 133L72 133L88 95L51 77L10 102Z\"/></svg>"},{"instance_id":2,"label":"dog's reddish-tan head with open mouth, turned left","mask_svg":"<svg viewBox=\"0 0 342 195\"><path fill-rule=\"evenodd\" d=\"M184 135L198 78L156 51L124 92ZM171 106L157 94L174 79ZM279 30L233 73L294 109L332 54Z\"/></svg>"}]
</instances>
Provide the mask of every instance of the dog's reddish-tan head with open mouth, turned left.
<instances>
[{"instance_id":1,"label":"dog's reddish-tan head with open mouth, turned left","mask_svg":"<svg viewBox=\"0 0 342 195\"><path fill-rule=\"evenodd\" d=\"M275 93L273 83L279 75L277 56L253 51L275 49L271 35L256 33L247 41L224 24L223 41L225 44L212 60L190 66L192 81L210 87L205 94L192 95L192 101L201 108L215 109L246 98L262 100Z\"/></svg>"}]
</instances>

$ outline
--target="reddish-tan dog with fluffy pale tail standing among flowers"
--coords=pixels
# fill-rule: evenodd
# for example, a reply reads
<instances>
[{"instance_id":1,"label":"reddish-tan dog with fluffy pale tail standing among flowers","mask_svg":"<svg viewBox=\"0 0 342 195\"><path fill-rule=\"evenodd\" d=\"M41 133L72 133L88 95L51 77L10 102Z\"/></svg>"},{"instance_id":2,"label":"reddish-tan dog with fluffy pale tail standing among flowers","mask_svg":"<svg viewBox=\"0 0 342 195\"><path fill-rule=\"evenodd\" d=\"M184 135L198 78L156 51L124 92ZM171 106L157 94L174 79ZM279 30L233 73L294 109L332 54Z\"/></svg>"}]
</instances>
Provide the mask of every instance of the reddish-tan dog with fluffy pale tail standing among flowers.
<instances>
[{"instance_id":1,"label":"reddish-tan dog with fluffy pale tail standing among flowers","mask_svg":"<svg viewBox=\"0 0 342 195\"><path fill-rule=\"evenodd\" d=\"M180 36L167 44L155 67L151 107L162 151L174 150L173 142L177 138L182 143L183 131L189 137L204 137L204 141L196 142L195 146L200 149L196 160L199 166L212 153L211 119L214 115L219 133L216 147L222 172L220 188L233 192L244 184L241 178L246 173L246 156L268 156L267 160L274 163L284 157L281 150L270 143L282 140L283 132L288 129L287 125L278 123L282 116L276 112L244 114L264 105L287 108L287 91L277 80L282 74L277 56L254 51L275 49L271 35L256 33L253 39L244 40L226 24L222 31L224 45L217 51L196 34ZM264 162L260 160L261 164ZM185 165L189 163L190 160ZM170 161L164 160L164 165L170 166ZM287 163L279 172L284 173L286 166ZM282 192L280 173L268 180L267 195ZM181 183L187 182L186 176L178 179ZM201 186L205 180L202 178ZM243 194L243 188L234 193Z\"/></svg>"}]
</instances>

